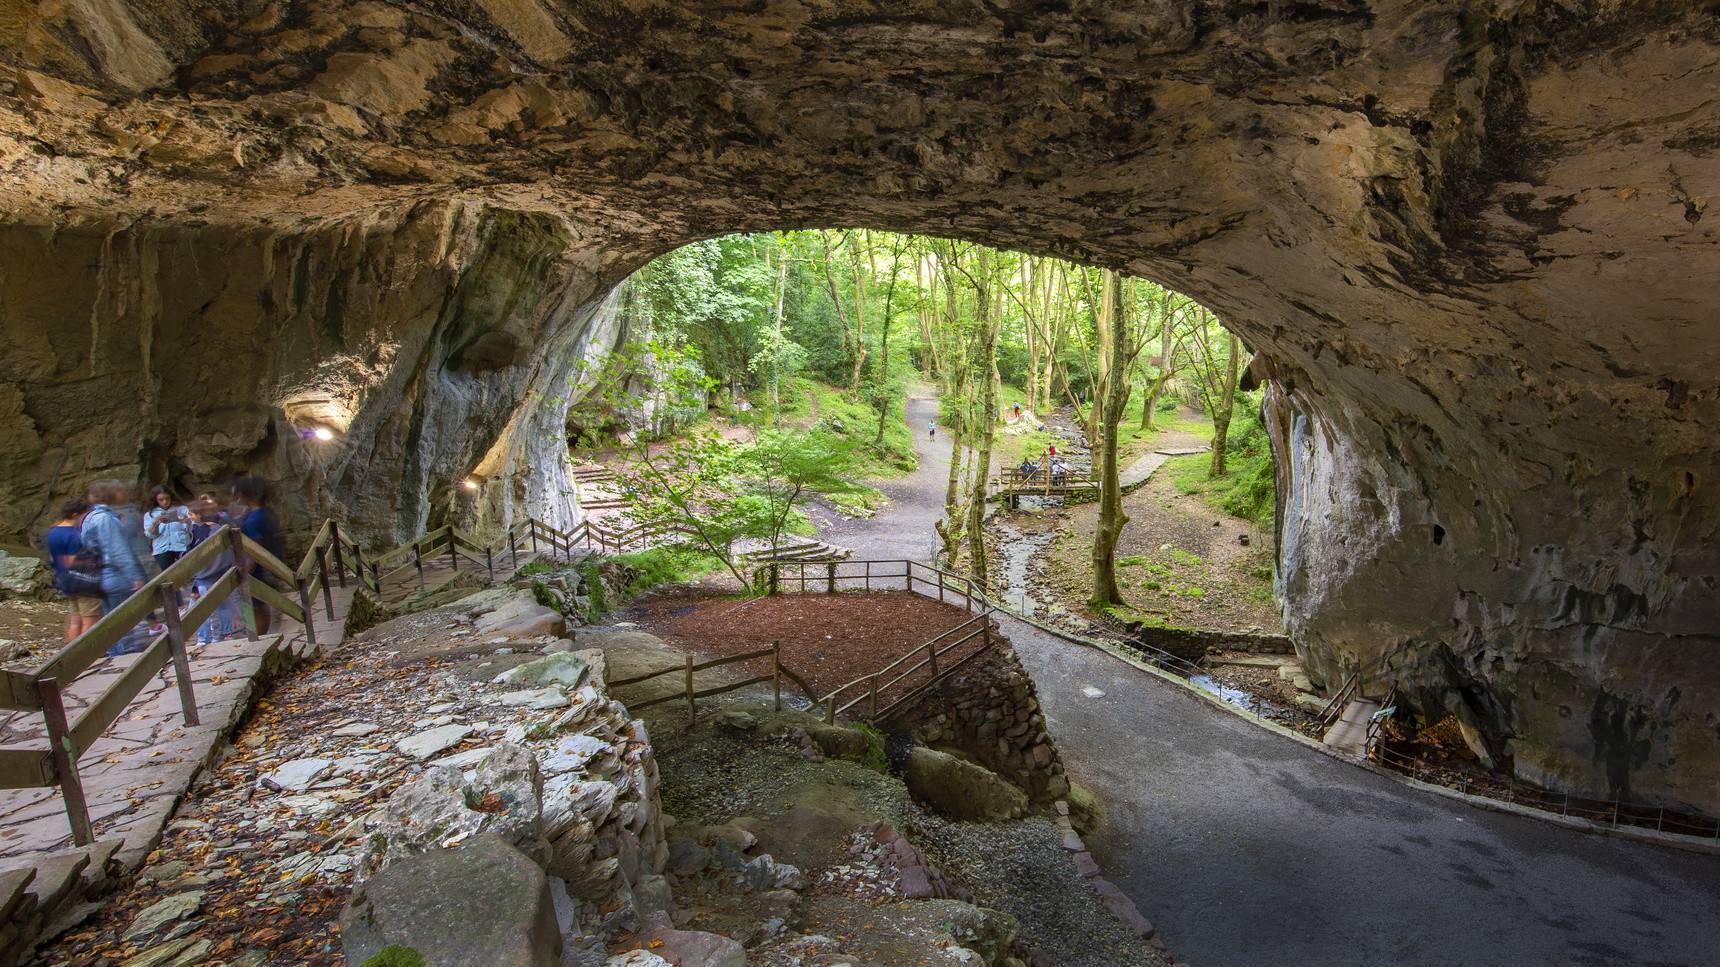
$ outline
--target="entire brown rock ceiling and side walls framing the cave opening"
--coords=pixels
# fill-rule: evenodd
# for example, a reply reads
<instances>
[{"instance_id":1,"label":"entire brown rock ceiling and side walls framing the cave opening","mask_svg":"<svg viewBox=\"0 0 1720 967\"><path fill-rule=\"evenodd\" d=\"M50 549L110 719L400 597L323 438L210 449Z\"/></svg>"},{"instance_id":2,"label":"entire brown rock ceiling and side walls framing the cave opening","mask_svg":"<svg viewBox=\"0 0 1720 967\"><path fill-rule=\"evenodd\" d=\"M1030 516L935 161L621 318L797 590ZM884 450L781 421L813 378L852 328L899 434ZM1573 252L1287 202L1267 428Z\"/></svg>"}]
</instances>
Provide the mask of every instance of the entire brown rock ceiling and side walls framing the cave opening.
<instances>
[{"instance_id":1,"label":"entire brown rock ceiling and side walls framing the cave opening","mask_svg":"<svg viewBox=\"0 0 1720 967\"><path fill-rule=\"evenodd\" d=\"M1720 809L1717 40L1672 0L38 5L0 22L0 520L239 468L301 525L566 520L628 272L961 236L1266 354L1312 673L1386 659L1527 776Z\"/></svg>"}]
</instances>

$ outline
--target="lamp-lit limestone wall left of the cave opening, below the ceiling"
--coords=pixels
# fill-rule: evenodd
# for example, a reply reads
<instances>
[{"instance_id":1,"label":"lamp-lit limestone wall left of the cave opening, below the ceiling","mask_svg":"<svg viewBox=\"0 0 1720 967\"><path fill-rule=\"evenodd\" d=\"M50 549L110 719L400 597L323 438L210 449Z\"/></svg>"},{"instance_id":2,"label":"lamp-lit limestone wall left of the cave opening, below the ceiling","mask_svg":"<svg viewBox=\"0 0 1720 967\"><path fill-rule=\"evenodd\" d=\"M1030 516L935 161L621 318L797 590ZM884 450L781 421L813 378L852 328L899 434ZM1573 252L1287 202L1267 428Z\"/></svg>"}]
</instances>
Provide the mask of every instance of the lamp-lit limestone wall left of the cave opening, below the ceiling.
<instances>
[{"instance_id":1,"label":"lamp-lit limestone wall left of the cave opening, below the ceiling","mask_svg":"<svg viewBox=\"0 0 1720 967\"><path fill-rule=\"evenodd\" d=\"M201 215L0 225L0 530L101 477L239 473L277 484L292 528L339 514L384 544L521 506L576 520L554 427L571 365L623 332L564 219Z\"/></svg>"}]
</instances>

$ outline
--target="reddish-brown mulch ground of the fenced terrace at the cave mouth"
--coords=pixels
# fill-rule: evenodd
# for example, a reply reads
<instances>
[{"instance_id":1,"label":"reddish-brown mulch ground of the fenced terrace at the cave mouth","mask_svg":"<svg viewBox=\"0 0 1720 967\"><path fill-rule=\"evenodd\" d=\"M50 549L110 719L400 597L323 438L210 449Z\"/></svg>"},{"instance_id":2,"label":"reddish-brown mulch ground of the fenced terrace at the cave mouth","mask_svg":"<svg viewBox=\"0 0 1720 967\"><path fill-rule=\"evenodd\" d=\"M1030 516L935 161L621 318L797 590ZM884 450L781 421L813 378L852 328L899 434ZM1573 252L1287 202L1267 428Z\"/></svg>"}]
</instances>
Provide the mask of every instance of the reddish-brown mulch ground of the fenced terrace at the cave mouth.
<instances>
[{"instance_id":1,"label":"reddish-brown mulch ground of the fenced terrace at the cave mouth","mask_svg":"<svg viewBox=\"0 0 1720 967\"><path fill-rule=\"evenodd\" d=\"M884 668L910 649L974 618L961 607L900 590L753 599L671 590L638 599L619 616L707 657L767 649L771 642L781 640L783 664L805 678L819 695ZM951 635L948 640L960 637ZM939 649L943 647L941 644ZM949 661L975 647L977 640L951 652ZM771 671L769 659L745 666L750 674ZM917 685L924 674L905 685Z\"/></svg>"}]
</instances>

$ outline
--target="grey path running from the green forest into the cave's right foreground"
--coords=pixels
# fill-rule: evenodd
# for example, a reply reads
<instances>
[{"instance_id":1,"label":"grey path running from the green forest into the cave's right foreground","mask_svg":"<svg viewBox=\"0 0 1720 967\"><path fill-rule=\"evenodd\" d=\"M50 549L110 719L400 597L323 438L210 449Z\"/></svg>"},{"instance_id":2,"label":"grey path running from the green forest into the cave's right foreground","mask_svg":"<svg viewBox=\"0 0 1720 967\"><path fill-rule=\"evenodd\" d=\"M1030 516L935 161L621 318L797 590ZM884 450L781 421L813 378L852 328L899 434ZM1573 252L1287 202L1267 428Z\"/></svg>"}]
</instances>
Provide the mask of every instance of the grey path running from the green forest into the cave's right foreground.
<instances>
[{"instance_id":1,"label":"grey path running from the green forest into the cave's right foreground","mask_svg":"<svg viewBox=\"0 0 1720 967\"><path fill-rule=\"evenodd\" d=\"M908 403L920 468L855 557L936 549L949 442ZM1004 619L1070 774L1108 809L1087 840L1171 952L1207 965L1703 965L1720 859L1502 816L1262 731L1118 659ZM1097 690L1103 695L1094 695Z\"/></svg>"}]
</instances>

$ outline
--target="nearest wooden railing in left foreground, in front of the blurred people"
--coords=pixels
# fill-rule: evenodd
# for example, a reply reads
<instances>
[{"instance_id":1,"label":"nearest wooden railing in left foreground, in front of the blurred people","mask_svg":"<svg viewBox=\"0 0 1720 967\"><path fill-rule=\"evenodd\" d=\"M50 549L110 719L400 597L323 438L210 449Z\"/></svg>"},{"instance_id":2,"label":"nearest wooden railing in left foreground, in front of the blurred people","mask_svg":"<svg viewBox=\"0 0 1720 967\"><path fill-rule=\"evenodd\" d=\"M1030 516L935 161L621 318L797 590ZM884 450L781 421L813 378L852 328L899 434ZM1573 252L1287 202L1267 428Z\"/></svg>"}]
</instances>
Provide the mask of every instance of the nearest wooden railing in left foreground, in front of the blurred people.
<instances>
[{"instance_id":1,"label":"nearest wooden railing in left foreground, in front of the blurred people","mask_svg":"<svg viewBox=\"0 0 1720 967\"><path fill-rule=\"evenodd\" d=\"M224 552L232 552L229 564L196 604L179 611L179 592L198 571L213 564ZM253 571L261 570L286 583L294 594L282 594ZM83 781L77 776L77 759L126 712L126 707L148 687L150 680L167 662L174 664L179 685L179 709L186 724L198 724L196 693L191 683L191 666L186 656L186 635L196 633L229 595L237 592L244 635L256 640L256 602L268 604L284 616L304 626L304 638L315 647L316 626L310 607L313 578L301 578L234 527L222 527L193 547L184 557L132 592L119 607L103 614L88 631L74 638L36 671L0 671L0 707L17 712L41 712L48 733L46 748L0 748L0 788L60 786L65 798L65 816L72 828L72 841L88 845L95 840L89 824L89 807ZM65 690L79 674L89 669L108 649L129 638L151 611L162 613L163 631L151 637L138 657L96 695L89 705L69 721Z\"/></svg>"}]
</instances>

